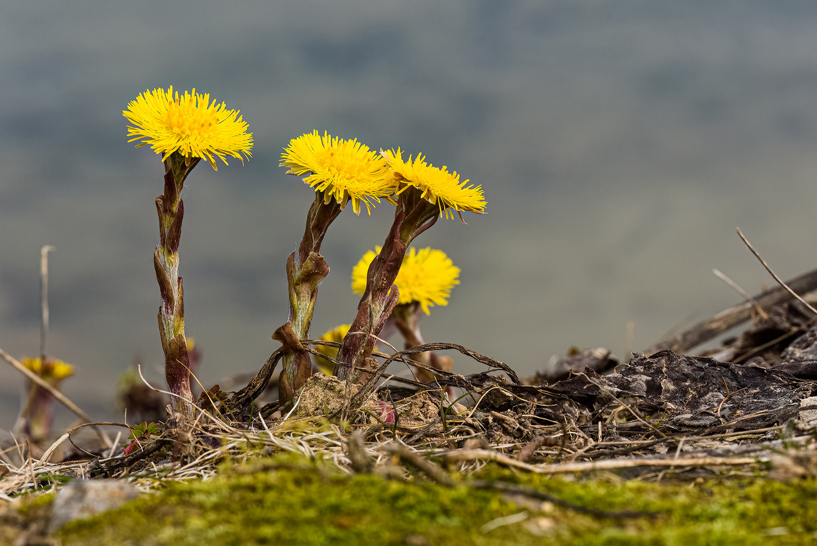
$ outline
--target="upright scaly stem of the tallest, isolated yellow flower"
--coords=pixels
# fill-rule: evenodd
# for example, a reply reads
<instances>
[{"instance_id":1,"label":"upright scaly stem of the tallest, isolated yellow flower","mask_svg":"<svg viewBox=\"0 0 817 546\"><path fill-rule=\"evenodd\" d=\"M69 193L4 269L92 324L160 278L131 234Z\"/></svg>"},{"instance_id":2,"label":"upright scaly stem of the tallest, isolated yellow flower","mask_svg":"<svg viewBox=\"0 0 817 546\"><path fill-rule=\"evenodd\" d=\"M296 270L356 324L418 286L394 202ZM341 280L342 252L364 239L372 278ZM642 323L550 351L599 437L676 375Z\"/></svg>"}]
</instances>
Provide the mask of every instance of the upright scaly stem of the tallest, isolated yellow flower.
<instances>
[{"instance_id":1,"label":"upright scaly stem of the tallest, isolated yellow flower","mask_svg":"<svg viewBox=\"0 0 817 546\"><path fill-rule=\"evenodd\" d=\"M185 293L179 276L179 240L185 204L181 188L199 158L185 161L173 153L164 162L164 193L156 198L159 244L154 250L154 268L162 305L158 310L158 332L164 351L164 374L173 410L194 418L190 392L190 359L185 338ZM181 396L181 398L180 398Z\"/></svg>"}]
</instances>

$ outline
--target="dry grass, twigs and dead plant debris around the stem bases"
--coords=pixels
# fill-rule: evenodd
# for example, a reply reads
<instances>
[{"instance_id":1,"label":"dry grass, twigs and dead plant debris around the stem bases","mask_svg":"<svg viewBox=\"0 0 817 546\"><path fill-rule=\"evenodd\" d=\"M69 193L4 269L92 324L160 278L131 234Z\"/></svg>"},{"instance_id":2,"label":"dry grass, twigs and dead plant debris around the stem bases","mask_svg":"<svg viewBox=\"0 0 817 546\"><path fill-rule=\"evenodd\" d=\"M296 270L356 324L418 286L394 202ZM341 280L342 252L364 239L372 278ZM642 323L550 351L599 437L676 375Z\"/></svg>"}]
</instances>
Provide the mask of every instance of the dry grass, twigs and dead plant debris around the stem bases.
<instances>
[{"instance_id":1,"label":"dry grass, twigs and dead plant debris around the stem bases","mask_svg":"<svg viewBox=\"0 0 817 546\"><path fill-rule=\"evenodd\" d=\"M62 441L74 442L82 427L126 425L75 427L41 459L8 450L0 463L5 472L0 492L3 499L52 490L65 497L69 490L63 481L109 483L96 480L115 478L114 483L144 493L172 482L210 480L223 472L225 461L250 463L252 472L260 472L252 461L281 453L319 457L346 476L373 473L405 480L418 471L446 487L468 484L489 464L531 475L615 471L645 481L669 475L694 480L725 469L770 471L769 477L779 481L815 477L817 326L804 309L796 301L770 308L711 356L663 350L638 353L619 364L605 349L573 349L550 375L524 381L502 362L454 344L374 352L382 363L365 383L314 374L290 405L257 407L257 396L265 392L283 355L279 350L247 387L223 392L215 386L203 392L194 420L168 406L163 423L128 427L126 441L117 439L111 449L86 445L75 460L49 458ZM301 343L308 352L317 352L312 347L318 344L338 345ZM412 359L451 350L486 369L454 374ZM722 356L735 361L719 360ZM389 366L398 363L425 370L434 381L392 375ZM453 399L452 389L462 396ZM650 517L574 505L505 482L471 485L545 499L590 517ZM54 528L63 521L59 506L54 504L50 516ZM526 525L542 527L534 523ZM45 536L41 527L32 536Z\"/></svg>"}]
</instances>

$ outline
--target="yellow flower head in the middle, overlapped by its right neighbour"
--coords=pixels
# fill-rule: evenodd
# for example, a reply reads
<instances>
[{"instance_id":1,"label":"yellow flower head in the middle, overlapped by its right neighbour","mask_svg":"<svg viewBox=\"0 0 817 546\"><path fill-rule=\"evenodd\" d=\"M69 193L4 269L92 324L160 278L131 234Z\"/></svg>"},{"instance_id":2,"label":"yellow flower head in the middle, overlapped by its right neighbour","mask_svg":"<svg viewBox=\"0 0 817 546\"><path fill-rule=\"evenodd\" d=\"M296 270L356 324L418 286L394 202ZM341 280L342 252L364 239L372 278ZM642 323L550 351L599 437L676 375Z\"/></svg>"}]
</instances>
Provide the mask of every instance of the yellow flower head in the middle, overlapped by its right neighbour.
<instances>
[{"instance_id":1,"label":"yellow flower head in the middle, overlapped by its right neighbour","mask_svg":"<svg viewBox=\"0 0 817 546\"><path fill-rule=\"evenodd\" d=\"M341 205L352 200L352 210L360 213L360 202L372 213L372 201L389 198L395 193L395 181L389 176L386 161L354 138L345 141L328 132L317 131L293 138L283 149L279 167L287 174L305 176L304 181L324 192L324 203L333 198ZM308 175L308 176L306 176Z\"/></svg>"}]
</instances>

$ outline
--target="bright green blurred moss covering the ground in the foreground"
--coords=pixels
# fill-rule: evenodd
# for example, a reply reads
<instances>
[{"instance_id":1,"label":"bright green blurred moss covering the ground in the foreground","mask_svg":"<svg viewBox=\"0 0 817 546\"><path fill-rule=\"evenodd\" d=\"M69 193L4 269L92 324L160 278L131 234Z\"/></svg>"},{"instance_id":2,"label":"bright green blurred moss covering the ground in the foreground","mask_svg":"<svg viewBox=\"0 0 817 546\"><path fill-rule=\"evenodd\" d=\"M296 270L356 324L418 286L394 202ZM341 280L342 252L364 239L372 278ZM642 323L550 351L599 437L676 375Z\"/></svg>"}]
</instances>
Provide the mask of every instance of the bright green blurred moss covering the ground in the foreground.
<instances>
[{"instance_id":1,"label":"bright green blurred moss covering the ground in the foreground","mask_svg":"<svg viewBox=\"0 0 817 546\"><path fill-rule=\"evenodd\" d=\"M349 477L328 464L279 456L225 468L208 482L168 483L123 508L58 533L78 544L812 544L817 481L712 477L663 485L618 477L518 475L489 466L483 480L534 487L604 510L659 517L591 517L497 491L448 489L417 477ZM523 513L526 512L526 513ZM499 517L521 520L485 530ZM507 521L507 520L505 520ZM502 522L502 520L497 521Z\"/></svg>"}]
</instances>

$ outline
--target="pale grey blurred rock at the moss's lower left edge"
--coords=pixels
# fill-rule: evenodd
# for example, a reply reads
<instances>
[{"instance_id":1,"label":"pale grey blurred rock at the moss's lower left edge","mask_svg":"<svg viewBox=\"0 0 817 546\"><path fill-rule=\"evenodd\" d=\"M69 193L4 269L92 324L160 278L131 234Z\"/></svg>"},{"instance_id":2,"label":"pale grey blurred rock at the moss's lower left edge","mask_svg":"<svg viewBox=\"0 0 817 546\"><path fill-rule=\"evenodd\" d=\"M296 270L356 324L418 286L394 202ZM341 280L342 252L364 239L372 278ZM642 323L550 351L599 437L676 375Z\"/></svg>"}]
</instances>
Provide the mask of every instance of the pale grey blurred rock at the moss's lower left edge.
<instances>
[{"instance_id":1,"label":"pale grey blurred rock at the moss's lower left edge","mask_svg":"<svg viewBox=\"0 0 817 546\"><path fill-rule=\"evenodd\" d=\"M119 508L137 497L136 487L123 480L71 481L56 494L48 527L56 530L69 521Z\"/></svg>"}]
</instances>

